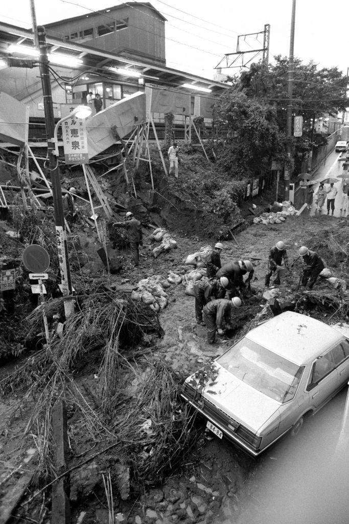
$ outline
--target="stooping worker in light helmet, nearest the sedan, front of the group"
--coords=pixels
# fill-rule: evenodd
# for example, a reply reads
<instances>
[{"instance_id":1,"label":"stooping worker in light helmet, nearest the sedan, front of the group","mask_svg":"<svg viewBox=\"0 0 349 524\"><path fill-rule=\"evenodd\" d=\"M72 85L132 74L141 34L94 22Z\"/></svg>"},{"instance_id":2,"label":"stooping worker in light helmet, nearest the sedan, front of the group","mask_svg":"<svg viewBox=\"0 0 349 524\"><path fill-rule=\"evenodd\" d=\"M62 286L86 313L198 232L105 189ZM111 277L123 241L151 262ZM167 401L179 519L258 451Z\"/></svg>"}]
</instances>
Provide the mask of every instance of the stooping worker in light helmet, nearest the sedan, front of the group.
<instances>
[{"instance_id":1,"label":"stooping worker in light helmet, nearest the sedan, front of the group","mask_svg":"<svg viewBox=\"0 0 349 524\"><path fill-rule=\"evenodd\" d=\"M224 333L223 328L231 325L231 310L239 308L241 300L239 297L232 299L217 299L208 302L203 310L204 322L207 328L207 341L209 344L215 343L216 330L219 335Z\"/></svg>"}]
</instances>

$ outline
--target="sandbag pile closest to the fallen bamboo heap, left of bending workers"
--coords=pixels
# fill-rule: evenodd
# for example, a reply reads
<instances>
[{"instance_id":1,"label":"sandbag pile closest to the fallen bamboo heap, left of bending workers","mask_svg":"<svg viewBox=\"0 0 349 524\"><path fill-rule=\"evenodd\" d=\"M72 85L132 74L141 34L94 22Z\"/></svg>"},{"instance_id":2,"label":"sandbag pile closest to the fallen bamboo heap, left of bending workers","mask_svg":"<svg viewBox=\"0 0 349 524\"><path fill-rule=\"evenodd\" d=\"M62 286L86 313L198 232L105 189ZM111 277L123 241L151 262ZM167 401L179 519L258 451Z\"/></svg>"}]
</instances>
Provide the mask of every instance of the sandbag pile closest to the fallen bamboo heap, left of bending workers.
<instances>
[{"instance_id":1,"label":"sandbag pile closest to the fallen bamboo heap, left of bending workers","mask_svg":"<svg viewBox=\"0 0 349 524\"><path fill-rule=\"evenodd\" d=\"M137 289L131 293L132 300L142 301L157 312L165 309L168 304L167 293L164 289L170 287L170 282L161 275L153 275L138 282Z\"/></svg>"}]
</instances>

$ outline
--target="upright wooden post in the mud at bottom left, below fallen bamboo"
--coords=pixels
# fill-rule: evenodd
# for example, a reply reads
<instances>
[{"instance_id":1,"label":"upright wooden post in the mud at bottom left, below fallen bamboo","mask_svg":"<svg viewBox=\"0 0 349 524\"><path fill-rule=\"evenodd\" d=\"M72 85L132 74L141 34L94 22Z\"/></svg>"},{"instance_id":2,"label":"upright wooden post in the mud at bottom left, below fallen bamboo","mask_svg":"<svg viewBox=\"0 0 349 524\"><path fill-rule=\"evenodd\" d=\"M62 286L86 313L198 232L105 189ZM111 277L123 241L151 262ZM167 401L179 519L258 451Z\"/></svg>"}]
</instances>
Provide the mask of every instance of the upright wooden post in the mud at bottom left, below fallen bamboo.
<instances>
[{"instance_id":1,"label":"upright wooden post in the mud at bottom left, below fallen bamboo","mask_svg":"<svg viewBox=\"0 0 349 524\"><path fill-rule=\"evenodd\" d=\"M66 452L68 449L67 418L65 403L59 398L52 411L52 432L55 443L55 468L57 476L66 471ZM65 492L65 477L52 486L51 524L70 524L70 502Z\"/></svg>"}]
</instances>

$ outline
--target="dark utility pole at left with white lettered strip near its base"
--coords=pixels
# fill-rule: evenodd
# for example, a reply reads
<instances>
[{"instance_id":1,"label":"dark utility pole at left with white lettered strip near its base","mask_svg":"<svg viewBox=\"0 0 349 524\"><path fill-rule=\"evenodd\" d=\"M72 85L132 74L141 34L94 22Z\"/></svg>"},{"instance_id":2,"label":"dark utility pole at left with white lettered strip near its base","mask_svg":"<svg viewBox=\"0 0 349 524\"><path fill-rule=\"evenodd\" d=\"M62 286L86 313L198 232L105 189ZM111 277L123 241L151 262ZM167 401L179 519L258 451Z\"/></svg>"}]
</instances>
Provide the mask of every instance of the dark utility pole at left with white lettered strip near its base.
<instances>
[{"instance_id":1,"label":"dark utility pole at left with white lettered strip near its base","mask_svg":"<svg viewBox=\"0 0 349 524\"><path fill-rule=\"evenodd\" d=\"M51 79L49 70L49 60L47 56L46 32L43 26L38 27L39 53L40 53L40 74L43 92L43 107L45 113L45 125L47 135L47 149L49 157L49 170L51 173L52 197L54 209L54 221L56 229L56 241L58 249L59 266L61 273L63 295L72 295L72 281L70 275L69 255L66 242L62 186L58 166L58 157L55 157L54 150L54 114L51 92ZM64 301L65 316L70 316L74 312L73 300Z\"/></svg>"}]
</instances>

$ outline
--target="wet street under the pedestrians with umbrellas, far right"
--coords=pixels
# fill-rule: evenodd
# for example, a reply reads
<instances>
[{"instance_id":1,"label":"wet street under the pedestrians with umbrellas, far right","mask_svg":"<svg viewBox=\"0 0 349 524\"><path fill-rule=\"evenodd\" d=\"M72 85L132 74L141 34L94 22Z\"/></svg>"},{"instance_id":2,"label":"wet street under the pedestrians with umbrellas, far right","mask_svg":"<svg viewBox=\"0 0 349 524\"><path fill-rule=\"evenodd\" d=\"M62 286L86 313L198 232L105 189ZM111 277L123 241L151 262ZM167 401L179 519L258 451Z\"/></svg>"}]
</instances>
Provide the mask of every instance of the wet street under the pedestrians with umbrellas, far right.
<instances>
[{"instance_id":1,"label":"wet street under the pedestrians with umbrellas, far right","mask_svg":"<svg viewBox=\"0 0 349 524\"><path fill-rule=\"evenodd\" d=\"M313 215L327 215L327 201L325 201L322 211L316 211L316 204L315 204L315 193L319 189L319 181L323 180L328 177L333 177L338 180L338 183L335 184L335 187L338 190L338 193L336 195L335 201L334 201L334 216L341 217L346 216L345 211L340 211L340 208L342 207L342 181L343 179L338 178L340 174L343 173L343 161L339 162L338 159L340 158L341 153L336 153L334 150L330 155L326 158L325 163L323 162L321 167L318 169L316 174L314 174L314 202L312 204L312 209L307 210L305 209L302 214L308 214L309 216ZM349 178L349 174L348 174ZM329 188L329 185L325 185L325 189ZM299 190L296 193L295 196L295 207L296 209L300 209L302 206L301 202L301 191Z\"/></svg>"}]
</instances>

